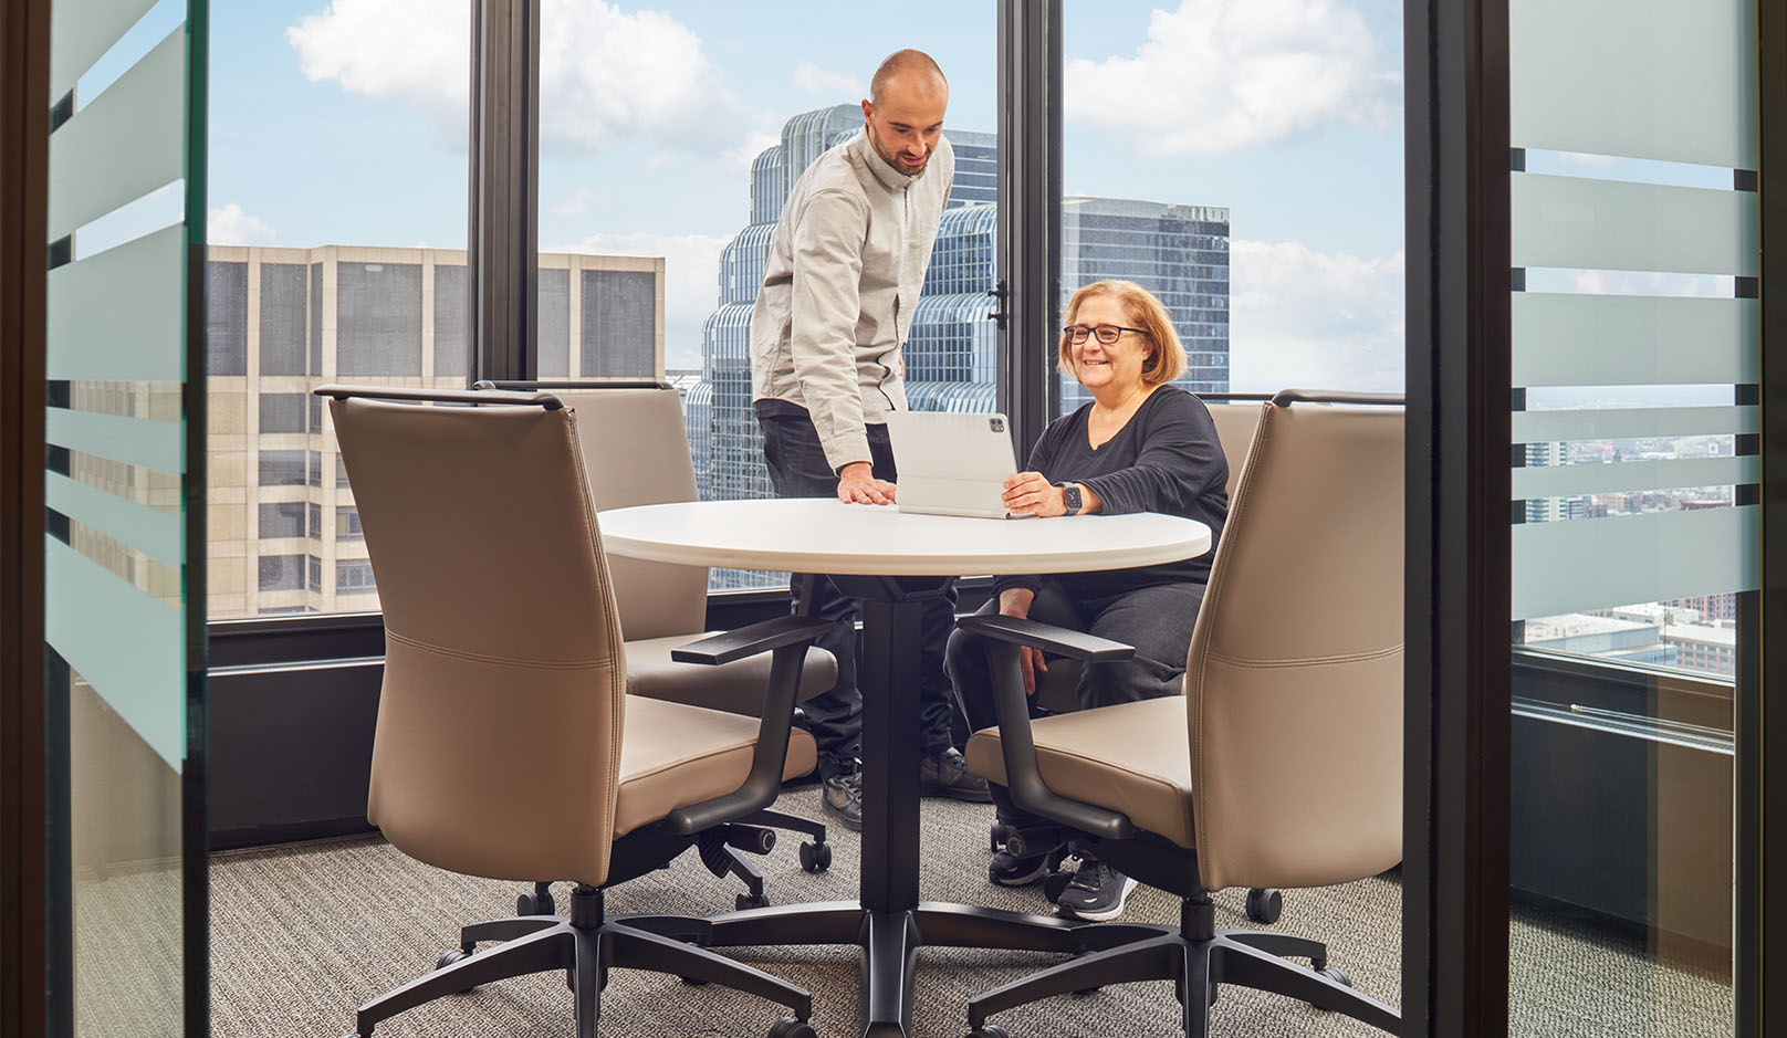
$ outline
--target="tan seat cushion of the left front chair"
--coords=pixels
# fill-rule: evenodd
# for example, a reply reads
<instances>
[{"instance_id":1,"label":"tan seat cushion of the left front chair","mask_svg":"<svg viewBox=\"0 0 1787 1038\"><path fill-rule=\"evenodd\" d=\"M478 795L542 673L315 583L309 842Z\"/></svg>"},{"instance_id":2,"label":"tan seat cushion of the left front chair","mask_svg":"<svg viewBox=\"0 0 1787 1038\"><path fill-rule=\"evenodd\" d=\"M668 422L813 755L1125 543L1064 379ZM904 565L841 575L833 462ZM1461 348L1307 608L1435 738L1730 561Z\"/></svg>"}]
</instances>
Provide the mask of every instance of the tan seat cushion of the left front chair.
<instances>
[{"instance_id":1,"label":"tan seat cushion of the left front chair","mask_svg":"<svg viewBox=\"0 0 1787 1038\"><path fill-rule=\"evenodd\" d=\"M629 695L620 738L615 836L649 825L677 808L731 793L751 774L756 745L754 718ZM810 774L817 752L813 736L793 729L783 781Z\"/></svg>"}]
</instances>

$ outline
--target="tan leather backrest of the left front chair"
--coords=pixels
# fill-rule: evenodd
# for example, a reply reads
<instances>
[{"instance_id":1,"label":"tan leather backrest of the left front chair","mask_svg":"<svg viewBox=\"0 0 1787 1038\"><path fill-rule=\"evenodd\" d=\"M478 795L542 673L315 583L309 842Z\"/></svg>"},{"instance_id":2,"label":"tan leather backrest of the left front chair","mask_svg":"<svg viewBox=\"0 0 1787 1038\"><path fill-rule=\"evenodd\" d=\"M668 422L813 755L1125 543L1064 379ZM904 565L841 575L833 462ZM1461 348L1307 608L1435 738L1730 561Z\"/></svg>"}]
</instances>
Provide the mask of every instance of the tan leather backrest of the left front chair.
<instances>
[{"instance_id":1,"label":"tan leather backrest of the left front chair","mask_svg":"<svg viewBox=\"0 0 1787 1038\"><path fill-rule=\"evenodd\" d=\"M366 816L441 868L600 884L625 661L575 418L331 411L384 609Z\"/></svg>"}]
</instances>

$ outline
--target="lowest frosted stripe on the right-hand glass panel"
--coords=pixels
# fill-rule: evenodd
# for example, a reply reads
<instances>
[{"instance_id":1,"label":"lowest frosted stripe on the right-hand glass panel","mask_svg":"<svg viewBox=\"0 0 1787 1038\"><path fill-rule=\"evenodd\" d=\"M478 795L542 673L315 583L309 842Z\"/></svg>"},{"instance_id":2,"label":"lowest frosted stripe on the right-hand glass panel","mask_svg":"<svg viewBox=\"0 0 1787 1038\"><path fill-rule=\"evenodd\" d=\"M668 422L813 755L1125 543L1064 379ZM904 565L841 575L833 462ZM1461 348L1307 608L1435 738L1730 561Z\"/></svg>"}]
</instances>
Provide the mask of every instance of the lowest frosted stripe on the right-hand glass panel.
<instances>
[{"instance_id":1,"label":"lowest frosted stripe on the right-hand glass panel","mask_svg":"<svg viewBox=\"0 0 1787 1038\"><path fill-rule=\"evenodd\" d=\"M1514 620L1751 591L1758 506L1517 523Z\"/></svg>"}]
</instances>

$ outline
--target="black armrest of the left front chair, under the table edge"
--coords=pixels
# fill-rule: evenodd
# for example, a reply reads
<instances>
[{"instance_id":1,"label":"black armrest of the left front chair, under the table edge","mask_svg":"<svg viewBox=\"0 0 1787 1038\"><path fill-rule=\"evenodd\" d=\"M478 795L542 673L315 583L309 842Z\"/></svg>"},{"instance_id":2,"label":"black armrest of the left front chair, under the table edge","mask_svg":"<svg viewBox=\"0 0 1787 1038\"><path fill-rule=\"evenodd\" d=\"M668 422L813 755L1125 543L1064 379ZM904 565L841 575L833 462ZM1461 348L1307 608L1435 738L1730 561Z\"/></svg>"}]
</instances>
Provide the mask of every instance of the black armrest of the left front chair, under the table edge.
<instances>
[{"instance_id":1,"label":"black armrest of the left front chair, under the table edge","mask_svg":"<svg viewBox=\"0 0 1787 1038\"><path fill-rule=\"evenodd\" d=\"M731 663L767 650L774 652L770 657L770 684L763 693L763 720L758 725L758 747L751 758L751 774L731 793L665 815L665 825L672 833L701 833L722 822L736 822L776 802L776 795L781 793L783 766L788 759L793 699L801 688L806 647L829 629L831 624L824 620L777 616L670 650L670 659L679 663L709 665Z\"/></svg>"}]
</instances>

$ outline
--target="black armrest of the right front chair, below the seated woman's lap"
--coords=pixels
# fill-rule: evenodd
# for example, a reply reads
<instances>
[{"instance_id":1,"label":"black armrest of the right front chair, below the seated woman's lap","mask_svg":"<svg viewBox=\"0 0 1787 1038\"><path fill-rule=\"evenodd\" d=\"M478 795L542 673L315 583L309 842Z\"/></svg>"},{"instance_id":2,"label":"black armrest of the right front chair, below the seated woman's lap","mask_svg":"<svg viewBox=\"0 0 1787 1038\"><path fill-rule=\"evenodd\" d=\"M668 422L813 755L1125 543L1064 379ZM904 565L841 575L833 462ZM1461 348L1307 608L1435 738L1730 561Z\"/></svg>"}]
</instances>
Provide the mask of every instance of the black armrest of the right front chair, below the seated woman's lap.
<instances>
[{"instance_id":1,"label":"black armrest of the right front chair, below the seated woman's lap","mask_svg":"<svg viewBox=\"0 0 1787 1038\"><path fill-rule=\"evenodd\" d=\"M1074 659L1129 659L1135 649L1079 631L1065 631L1017 620L1015 616L963 616L963 631L986 638L986 663L994 679L994 709L999 713L999 749L1004 754L1006 790L1019 808L1042 815L1101 840L1128 840L1135 834L1129 816L1083 800L1061 797L1042 781L1036 766L1036 741L1029 732L1029 697L1019 670L1019 647L1044 649Z\"/></svg>"}]
</instances>

